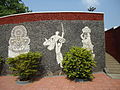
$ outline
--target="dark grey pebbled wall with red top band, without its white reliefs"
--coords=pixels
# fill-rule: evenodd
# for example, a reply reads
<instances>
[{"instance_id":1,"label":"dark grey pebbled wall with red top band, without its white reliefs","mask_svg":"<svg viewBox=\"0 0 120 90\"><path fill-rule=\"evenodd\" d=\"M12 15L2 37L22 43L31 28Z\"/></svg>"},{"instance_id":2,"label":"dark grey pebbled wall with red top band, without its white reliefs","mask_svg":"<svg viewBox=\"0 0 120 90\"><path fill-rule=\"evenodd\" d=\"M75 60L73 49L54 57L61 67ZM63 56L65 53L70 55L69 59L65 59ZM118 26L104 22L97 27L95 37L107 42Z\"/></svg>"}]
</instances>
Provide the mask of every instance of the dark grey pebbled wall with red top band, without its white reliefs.
<instances>
[{"instance_id":1,"label":"dark grey pebbled wall with red top band, without its white reliefs","mask_svg":"<svg viewBox=\"0 0 120 90\"><path fill-rule=\"evenodd\" d=\"M34 18L33 18L34 17ZM103 14L82 13L82 12L64 12L64 13L30 13L0 18L0 55L8 57L8 46L11 37L11 31L15 26L23 25L27 30L27 36L30 39L30 51L39 51L44 54L42 66L45 73L55 75L61 70L56 60L56 46L48 48L44 45L45 38L58 36L64 39L60 52L64 55L72 46L82 47L81 34L82 29L88 27L91 30L90 39L93 44L93 53L97 67L94 71L102 71L104 68L104 24ZM64 32L64 35L62 35ZM59 50L59 49L57 49Z\"/></svg>"}]
</instances>

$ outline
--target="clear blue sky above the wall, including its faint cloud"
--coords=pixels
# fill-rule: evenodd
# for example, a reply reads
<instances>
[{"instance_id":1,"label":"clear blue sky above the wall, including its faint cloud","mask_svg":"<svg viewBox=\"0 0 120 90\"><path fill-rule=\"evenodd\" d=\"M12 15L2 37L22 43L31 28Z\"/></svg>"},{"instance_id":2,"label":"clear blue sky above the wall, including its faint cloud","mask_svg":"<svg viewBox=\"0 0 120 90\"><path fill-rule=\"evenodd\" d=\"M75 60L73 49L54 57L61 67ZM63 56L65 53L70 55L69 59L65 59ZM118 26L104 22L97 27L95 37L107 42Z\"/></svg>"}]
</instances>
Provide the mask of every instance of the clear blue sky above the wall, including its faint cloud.
<instances>
[{"instance_id":1,"label":"clear blue sky above the wall, including its faint cloud","mask_svg":"<svg viewBox=\"0 0 120 90\"><path fill-rule=\"evenodd\" d=\"M120 26L120 0L22 0L32 12L42 11L87 11L90 6L94 12L104 13L106 30Z\"/></svg>"}]
</instances>

